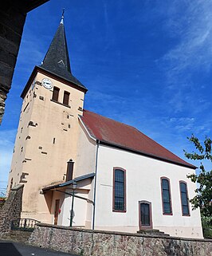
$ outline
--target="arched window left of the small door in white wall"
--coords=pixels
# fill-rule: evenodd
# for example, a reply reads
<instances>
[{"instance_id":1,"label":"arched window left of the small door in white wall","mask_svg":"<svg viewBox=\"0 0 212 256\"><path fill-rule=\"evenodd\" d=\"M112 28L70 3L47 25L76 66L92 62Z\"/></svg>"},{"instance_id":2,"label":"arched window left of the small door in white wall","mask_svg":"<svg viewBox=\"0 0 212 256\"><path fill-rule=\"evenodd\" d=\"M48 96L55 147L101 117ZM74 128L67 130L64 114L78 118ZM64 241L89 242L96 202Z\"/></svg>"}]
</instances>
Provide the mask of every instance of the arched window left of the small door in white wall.
<instances>
[{"instance_id":1,"label":"arched window left of the small door in white wall","mask_svg":"<svg viewBox=\"0 0 212 256\"><path fill-rule=\"evenodd\" d=\"M113 211L126 211L126 171L120 167L113 169Z\"/></svg>"}]
</instances>

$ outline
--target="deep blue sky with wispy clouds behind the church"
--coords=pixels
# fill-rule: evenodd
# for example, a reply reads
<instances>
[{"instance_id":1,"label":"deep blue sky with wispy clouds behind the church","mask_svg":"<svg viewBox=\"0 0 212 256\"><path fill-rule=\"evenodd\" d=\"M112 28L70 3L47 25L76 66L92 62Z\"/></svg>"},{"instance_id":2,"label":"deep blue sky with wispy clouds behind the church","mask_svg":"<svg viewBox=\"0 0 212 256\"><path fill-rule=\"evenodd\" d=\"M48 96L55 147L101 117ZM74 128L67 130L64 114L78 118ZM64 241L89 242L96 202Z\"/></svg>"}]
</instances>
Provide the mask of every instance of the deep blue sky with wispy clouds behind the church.
<instances>
[{"instance_id":1,"label":"deep blue sky with wispy clouds behind the church","mask_svg":"<svg viewBox=\"0 0 212 256\"><path fill-rule=\"evenodd\" d=\"M211 0L50 0L26 18L0 127L0 188L10 171L20 94L63 7L72 72L88 88L84 108L139 128L183 159L183 149L193 149L187 136L212 137Z\"/></svg>"}]
</instances>

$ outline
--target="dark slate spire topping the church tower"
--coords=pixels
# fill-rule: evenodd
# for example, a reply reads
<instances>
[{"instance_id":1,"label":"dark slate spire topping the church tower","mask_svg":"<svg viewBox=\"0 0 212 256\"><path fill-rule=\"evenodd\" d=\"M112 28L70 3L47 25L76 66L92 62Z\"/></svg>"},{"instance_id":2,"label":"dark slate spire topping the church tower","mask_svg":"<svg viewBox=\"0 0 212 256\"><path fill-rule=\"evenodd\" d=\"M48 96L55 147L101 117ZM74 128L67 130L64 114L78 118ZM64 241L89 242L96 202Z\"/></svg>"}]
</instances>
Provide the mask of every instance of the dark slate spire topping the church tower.
<instances>
[{"instance_id":1,"label":"dark slate spire topping the church tower","mask_svg":"<svg viewBox=\"0 0 212 256\"><path fill-rule=\"evenodd\" d=\"M57 28L57 32L53 37L53 41L51 42L40 67L86 89L76 77L73 77L71 72L68 46L65 37L64 11L61 23Z\"/></svg>"}]
</instances>

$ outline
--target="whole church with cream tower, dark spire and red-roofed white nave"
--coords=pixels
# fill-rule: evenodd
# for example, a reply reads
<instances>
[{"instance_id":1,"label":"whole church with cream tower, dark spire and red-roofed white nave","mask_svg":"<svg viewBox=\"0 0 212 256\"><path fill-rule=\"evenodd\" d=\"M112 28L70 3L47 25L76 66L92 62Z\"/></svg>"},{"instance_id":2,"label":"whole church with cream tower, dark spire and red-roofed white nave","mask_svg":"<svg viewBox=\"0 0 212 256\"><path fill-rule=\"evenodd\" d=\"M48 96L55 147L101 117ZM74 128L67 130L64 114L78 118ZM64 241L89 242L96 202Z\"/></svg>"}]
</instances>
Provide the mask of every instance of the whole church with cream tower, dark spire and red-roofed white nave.
<instances>
[{"instance_id":1,"label":"whole church with cream tower, dark spire and red-roofed white nave","mask_svg":"<svg viewBox=\"0 0 212 256\"><path fill-rule=\"evenodd\" d=\"M84 109L64 18L22 91L8 190L24 184L22 218L95 230L202 238L189 199L194 165L136 128Z\"/></svg>"}]
</instances>

